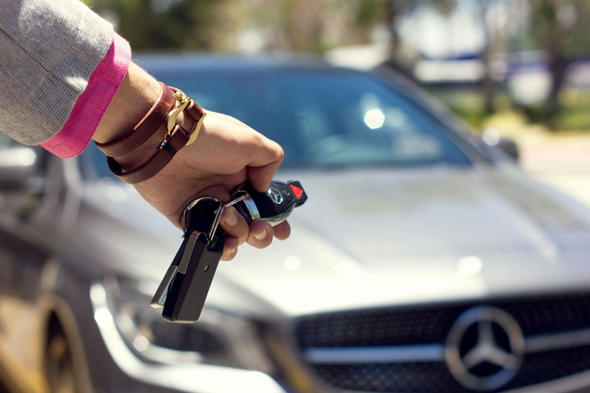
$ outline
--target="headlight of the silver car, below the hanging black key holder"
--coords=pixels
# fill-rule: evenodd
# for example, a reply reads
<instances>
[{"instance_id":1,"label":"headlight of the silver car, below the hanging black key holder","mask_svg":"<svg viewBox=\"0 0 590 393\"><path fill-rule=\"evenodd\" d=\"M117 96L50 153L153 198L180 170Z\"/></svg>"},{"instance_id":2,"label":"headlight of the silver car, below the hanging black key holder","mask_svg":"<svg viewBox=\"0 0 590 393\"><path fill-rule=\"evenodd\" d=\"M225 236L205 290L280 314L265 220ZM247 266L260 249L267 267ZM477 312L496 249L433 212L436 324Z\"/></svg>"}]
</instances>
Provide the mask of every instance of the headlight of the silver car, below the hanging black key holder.
<instances>
[{"instance_id":1,"label":"headlight of the silver car, below the hanging black key holder","mask_svg":"<svg viewBox=\"0 0 590 393\"><path fill-rule=\"evenodd\" d=\"M93 285L90 297L95 308L103 300L123 341L146 361L199 362L273 374L258 325L248 315L205 306L196 323L166 322L150 307L148 290L114 278Z\"/></svg>"}]
</instances>

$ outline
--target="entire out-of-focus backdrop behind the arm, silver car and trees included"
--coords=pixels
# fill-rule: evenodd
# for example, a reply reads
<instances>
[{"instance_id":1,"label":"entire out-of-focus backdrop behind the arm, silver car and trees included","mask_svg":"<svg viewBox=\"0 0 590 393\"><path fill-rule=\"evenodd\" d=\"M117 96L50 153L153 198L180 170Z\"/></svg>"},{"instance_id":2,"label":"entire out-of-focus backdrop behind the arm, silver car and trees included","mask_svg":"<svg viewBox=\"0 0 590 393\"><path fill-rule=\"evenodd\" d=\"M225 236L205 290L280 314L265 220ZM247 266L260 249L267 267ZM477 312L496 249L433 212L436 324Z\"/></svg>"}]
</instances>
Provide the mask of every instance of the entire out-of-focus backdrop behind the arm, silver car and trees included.
<instances>
[{"instance_id":1,"label":"entire out-of-focus backdrop behind the arm, silver car and trees included","mask_svg":"<svg viewBox=\"0 0 590 393\"><path fill-rule=\"evenodd\" d=\"M0 393L590 391L590 0L84 2L309 201L172 324L178 228L0 134Z\"/></svg>"}]
</instances>

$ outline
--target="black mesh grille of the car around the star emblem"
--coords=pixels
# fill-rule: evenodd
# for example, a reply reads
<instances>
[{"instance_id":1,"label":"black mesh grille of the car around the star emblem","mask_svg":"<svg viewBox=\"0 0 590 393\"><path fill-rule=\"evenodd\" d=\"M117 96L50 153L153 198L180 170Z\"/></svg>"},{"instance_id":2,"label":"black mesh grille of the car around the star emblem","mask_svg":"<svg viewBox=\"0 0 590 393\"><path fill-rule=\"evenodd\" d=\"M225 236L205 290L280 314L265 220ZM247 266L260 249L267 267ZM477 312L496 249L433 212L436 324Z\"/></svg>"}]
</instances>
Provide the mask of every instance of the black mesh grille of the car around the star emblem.
<instances>
[{"instance_id":1,"label":"black mesh grille of the car around the star emblem","mask_svg":"<svg viewBox=\"0 0 590 393\"><path fill-rule=\"evenodd\" d=\"M305 316L296 326L301 351L309 348L379 348L444 344L451 325L466 309L481 303L371 309ZM503 309L523 335L590 328L590 294L500 299L486 305ZM564 345L566 346L566 345ZM470 392L441 361L314 363L324 384L363 392ZM517 374L499 390L526 387L590 369L590 342L526 354Z\"/></svg>"}]
</instances>

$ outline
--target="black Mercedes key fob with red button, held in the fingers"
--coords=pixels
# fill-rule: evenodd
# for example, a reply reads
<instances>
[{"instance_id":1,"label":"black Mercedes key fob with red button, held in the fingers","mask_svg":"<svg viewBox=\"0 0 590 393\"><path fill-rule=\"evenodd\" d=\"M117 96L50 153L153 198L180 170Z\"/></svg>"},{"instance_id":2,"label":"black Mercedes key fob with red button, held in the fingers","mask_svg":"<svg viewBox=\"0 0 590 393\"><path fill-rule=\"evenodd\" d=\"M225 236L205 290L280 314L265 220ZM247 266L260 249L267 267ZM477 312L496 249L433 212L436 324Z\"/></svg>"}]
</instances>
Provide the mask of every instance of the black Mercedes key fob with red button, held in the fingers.
<instances>
[{"instance_id":1,"label":"black Mercedes key fob with red button, held in the fingers","mask_svg":"<svg viewBox=\"0 0 590 393\"><path fill-rule=\"evenodd\" d=\"M248 196L237 203L236 207L248 224L254 220L264 220L273 226L279 224L290 216L295 207L307 200L301 183L293 180L284 182L273 179L266 193L256 191L250 183L244 183L231 196L238 199L246 193Z\"/></svg>"}]
</instances>

